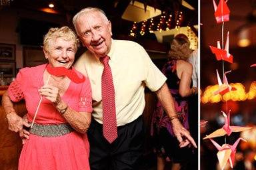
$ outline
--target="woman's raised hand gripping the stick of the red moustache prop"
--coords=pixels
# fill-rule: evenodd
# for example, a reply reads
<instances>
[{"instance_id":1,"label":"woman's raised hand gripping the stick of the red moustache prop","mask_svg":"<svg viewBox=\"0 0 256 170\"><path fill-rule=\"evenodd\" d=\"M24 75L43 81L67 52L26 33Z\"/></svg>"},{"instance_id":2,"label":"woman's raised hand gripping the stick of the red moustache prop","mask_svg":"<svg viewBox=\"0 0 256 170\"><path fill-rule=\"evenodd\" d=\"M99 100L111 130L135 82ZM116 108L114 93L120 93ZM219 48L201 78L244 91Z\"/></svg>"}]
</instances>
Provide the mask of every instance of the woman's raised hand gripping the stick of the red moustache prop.
<instances>
[{"instance_id":1,"label":"woman's raised hand gripping the stick of the red moustache prop","mask_svg":"<svg viewBox=\"0 0 256 170\"><path fill-rule=\"evenodd\" d=\"M45 96L48 100L54 104L58 104L61 101L61 96L59 95L59 88L51 85L42 86L39 90L41 96Z\"/></svg>"}]
</instances>

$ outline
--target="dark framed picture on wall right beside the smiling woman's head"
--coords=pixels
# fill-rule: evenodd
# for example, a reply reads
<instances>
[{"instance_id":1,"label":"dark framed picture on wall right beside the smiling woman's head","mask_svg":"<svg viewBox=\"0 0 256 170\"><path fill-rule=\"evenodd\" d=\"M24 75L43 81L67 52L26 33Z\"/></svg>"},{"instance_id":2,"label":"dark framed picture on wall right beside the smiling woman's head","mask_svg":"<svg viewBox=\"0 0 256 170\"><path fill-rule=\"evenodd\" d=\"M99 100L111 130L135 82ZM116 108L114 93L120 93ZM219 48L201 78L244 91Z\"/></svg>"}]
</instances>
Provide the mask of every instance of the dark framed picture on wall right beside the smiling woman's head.
<instances>
[{"instance_id":1,"label":"dark framed picture on wall right beside the smiling woman's head","mask_svg":"<svg viewBox=\"0 0 256 170\"><path fill-rule=\"evenodd\" d=\"M24 66L37 66L46 63L43 48L34 46L23 47Z\"/></svg>"}]
</instances>

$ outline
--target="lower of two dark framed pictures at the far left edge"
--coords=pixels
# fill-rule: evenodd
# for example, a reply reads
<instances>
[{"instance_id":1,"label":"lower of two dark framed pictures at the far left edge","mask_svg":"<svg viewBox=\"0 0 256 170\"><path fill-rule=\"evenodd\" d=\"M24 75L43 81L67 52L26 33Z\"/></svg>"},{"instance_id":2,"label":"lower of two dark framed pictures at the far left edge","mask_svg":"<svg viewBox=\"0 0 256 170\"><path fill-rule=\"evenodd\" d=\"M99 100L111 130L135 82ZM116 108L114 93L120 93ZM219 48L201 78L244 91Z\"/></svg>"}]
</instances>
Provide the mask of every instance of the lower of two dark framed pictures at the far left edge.
<instances>
[{"instance_id":1,"label":"lower of two dark framed pictures at the far left edge","mask_svg":"<svg viewBox=\"0 0 256 170\"><path fill-rule=\"evenodd\" d=\"M5 78L16 76L16 62L0 62L0 72Z\"/></svg>"}]
</instances>

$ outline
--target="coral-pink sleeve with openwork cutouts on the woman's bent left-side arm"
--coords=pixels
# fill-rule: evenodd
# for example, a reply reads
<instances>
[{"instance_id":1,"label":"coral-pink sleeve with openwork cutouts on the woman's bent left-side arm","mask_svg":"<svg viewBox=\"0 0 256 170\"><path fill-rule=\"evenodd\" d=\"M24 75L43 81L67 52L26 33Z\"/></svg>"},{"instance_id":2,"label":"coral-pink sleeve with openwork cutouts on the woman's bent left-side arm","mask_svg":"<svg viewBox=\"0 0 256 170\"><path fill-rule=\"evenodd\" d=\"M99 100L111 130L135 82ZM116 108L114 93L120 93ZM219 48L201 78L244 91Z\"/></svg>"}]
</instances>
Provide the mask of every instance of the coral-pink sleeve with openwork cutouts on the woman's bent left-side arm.
<instances>
[{"instance_id":1,"label":"coral-pink sleeve with openwork cutouts on the woman's bent left-side arm","mask_svg":"<svg viewBox=\"0 0 256 170\"><path fill-rule=\"evenodd\" d=\"M26 82L26 72L27 68L21 69L15 80L11 82L9 88L8 88L8 94L9 97L11 98L11 101L13 102L19 102L24 99L24 90L23 86Z\"/></svg>"}]
</instances>

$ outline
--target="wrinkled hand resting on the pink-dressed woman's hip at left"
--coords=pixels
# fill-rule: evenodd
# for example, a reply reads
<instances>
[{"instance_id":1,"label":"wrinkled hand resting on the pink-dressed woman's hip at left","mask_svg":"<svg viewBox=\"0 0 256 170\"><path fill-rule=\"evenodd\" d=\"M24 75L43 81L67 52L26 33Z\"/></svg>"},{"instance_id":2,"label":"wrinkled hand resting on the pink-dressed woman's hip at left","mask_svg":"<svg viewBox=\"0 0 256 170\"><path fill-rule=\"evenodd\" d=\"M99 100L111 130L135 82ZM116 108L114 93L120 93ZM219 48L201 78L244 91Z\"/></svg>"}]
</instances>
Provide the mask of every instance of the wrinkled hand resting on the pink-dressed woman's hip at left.
<instances>
[{"instance_id":1,"label":"wrinkled hand resting on the pink-dressed woman's hip at left","mask_svg":"<svg viewBox=\"0 0 256 170\"><path fill-rule=\"evenodd\" d=\"M22 138L22 143L24 144L25 139L29 139L29 131L23 129L23 126L27 128L30 127L27 118L23 119L15 112L7 114L6 118L8 121L8 129L11 131L19 132L19 136Z\"/></svg>"}]
</instances>

